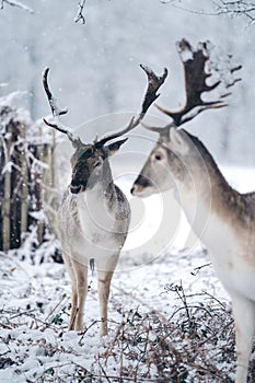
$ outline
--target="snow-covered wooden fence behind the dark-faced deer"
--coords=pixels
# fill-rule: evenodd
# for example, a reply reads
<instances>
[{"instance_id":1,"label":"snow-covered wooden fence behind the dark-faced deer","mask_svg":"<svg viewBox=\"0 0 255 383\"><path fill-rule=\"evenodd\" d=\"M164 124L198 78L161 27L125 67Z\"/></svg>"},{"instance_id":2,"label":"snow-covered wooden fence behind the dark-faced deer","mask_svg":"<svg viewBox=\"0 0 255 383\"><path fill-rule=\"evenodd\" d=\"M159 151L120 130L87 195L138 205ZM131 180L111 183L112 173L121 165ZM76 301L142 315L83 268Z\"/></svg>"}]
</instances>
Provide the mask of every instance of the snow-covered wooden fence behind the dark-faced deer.
<instances>
[{"instance_id":1,"label":"snow-covered wooden fence behind the dark-faced deer","mask_svg":"<svg viewBox=\"0 0 255 383\"><path fill-rule=\"evenodd\" d=\"M33 229L37 245L44 241L43 201L50 199L55 186L55 132L44 131L33 126L25 111L0 105L1 251L20 247Z\"/></svg>"}]
</instances>

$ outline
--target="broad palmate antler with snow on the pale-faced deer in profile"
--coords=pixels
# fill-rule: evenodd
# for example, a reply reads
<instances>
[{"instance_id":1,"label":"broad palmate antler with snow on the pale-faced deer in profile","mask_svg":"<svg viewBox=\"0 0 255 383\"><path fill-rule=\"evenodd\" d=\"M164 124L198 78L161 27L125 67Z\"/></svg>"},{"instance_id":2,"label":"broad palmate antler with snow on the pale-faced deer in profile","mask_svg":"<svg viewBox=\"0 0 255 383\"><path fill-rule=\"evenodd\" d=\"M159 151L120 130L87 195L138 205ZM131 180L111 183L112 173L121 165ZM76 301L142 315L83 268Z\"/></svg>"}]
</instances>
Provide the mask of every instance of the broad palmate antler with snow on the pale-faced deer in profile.
<instances>
[{"instance_id":1,"label":"broad palmate antler with snow on the pale-faced deer in profile","mask_svg":"<svg viewBox=\"0 0 255 383\"><path fill-rule=\"evenodd\" d=\"M211 76L211 73L206 72L206 63L209 60L208 43L199 43L197 50L194 51L192 45L183 38L177 43L177 48L185 72L186 103L184 107L177 112L171 112L158 105L155 106L161 112L172 117L175 126L181 126L204 111L224 107L228 104L225 104L222 100L206 102L201 98L201 94L204 92L210 92L215 90L222 82L219 80L212 85L208 85L206 82L206 80ZM242 66L232 68L230 69L230 73L232 74L234 71L241 68ZM232 83L225 84L225 88L232 86L236 81L240 80L241 79L236 79ZM221 95L220 98L223 98L229 94L231 93ZM187 115L190 111L193 111L193 114Z\"/></svg>"}]
</instances>

